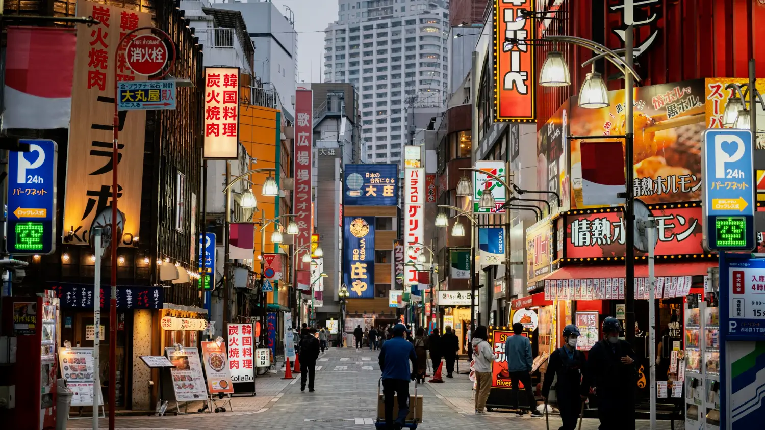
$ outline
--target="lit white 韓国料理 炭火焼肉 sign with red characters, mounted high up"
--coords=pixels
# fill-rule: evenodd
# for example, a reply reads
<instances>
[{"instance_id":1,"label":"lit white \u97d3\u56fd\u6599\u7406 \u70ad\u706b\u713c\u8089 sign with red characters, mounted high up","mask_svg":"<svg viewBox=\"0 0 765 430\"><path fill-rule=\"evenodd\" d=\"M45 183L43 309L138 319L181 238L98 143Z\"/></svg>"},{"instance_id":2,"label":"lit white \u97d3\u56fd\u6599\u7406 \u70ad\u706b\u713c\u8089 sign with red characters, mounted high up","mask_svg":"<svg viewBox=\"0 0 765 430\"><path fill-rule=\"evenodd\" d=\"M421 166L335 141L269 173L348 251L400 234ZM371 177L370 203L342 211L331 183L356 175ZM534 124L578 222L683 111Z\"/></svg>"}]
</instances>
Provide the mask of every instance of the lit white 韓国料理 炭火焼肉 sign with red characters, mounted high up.
<instances>
[{"instance_id":1,"label":"lit white \u97d3\u56fd\u6599\u7406 \u70ad\u706b\u713c\u8089 sign with red characters, mounted high up","mask_svg":"<svg viewBox=\"0 0 765 430\"><path fill-rule=\"evenodd\" d=\"M204 70L205 158L236 159L239 145L239 69Z\"/></svg>"}]
</instances>

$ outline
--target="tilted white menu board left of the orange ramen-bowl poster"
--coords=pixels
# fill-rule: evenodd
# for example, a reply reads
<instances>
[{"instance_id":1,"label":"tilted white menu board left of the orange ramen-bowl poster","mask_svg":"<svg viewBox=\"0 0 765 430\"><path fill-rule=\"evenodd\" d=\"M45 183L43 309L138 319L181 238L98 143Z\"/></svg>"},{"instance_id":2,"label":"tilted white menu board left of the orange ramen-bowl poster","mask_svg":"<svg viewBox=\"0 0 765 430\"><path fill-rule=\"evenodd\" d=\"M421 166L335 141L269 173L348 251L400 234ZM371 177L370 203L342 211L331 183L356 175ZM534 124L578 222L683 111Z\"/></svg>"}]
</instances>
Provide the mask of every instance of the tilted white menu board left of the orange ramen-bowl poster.
<instances>
[{"instance_id":1,"label":"tilted white menu board left of the orange ramen-bowl poster","mask_svg":"<svg viewBox=\"0 0 765 430\"><path fill-rule=\"evenodd\" d=\"M170 369L175 399L178 402L207 399L202 363L199 360L197 348L175 351L175 348L168 347L164 348L164 353L175 366Z\"/></svg>"}]
</instances>

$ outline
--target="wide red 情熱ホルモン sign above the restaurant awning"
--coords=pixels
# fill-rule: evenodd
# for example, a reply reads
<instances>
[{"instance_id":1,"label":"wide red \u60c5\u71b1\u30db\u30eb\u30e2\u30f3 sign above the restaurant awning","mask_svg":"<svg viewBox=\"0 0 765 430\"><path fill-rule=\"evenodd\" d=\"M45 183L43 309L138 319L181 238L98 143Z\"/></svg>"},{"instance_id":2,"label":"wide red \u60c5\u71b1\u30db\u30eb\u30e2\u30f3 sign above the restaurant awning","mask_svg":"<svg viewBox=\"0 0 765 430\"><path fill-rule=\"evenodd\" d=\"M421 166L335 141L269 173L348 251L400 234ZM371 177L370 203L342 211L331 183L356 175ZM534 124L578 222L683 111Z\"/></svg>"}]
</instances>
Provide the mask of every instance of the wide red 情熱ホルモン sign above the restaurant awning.
<instances>
[{"instance_id":1,"label":"wide red \u60c5\u71b1\u30db\u30eb\u30e2\u30f3 sign above the restaurant awning","mask_svg":"<svg viewBox=\"0 0 765 430\"><path fill-rule=\"evenodd\" d=\"M701 207L653 209L656 255L703 254ZM623 257L626 234L621 212L566 217L566 258ZM640 251L636 251L640 255Z\"/></svg>"}]
</instances>

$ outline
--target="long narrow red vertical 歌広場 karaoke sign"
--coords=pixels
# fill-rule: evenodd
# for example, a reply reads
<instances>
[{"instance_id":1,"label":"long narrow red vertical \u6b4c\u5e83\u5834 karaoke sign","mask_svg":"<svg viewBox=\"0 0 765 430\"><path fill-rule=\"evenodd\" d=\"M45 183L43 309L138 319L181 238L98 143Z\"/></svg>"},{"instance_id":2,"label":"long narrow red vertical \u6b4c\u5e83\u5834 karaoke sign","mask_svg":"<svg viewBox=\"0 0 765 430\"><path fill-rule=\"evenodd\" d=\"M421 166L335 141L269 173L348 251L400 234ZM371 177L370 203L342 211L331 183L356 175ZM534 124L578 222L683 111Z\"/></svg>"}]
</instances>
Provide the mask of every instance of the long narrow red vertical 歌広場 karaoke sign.
<instances>
[{"instance_id":1,"label":"long narrow red vertical \u6b4c\u5e83\u5834 karaoke sign","mask_svg":"<svg viewBox=\"0 0 765 430\"><path fill-rule=\"evenodd\" d=\"M311 158L313 157L312 136L313 126L314 92L310 89L298 89L295 91L295 148L293 148L294 172L295 172L295 201L292 205L295 211L295 222L298 224L298 234L295 235L295 247L311 244ZM298 270L310 270L310 263L303 263L302 252L298 252ZM310 276L308 272L301 275L298 272L298 284L303 284L300 289L308 289Z\"/></svg>"}]
</instances>

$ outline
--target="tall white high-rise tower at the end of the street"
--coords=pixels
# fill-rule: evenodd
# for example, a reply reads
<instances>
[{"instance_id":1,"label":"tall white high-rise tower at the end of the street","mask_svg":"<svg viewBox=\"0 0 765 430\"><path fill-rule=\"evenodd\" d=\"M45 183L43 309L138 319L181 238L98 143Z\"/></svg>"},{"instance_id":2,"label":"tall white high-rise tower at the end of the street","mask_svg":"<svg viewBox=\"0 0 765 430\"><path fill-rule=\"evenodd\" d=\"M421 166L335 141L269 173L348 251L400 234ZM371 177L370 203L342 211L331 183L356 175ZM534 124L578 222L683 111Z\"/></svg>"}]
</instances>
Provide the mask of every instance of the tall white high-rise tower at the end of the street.
<instances>
[{"instance_id":1,"label":"tall white high-rise tower at the end of the street","mask_svg":"<svg viewBox=\"0 0 765 430\"><path fill-rule=\"evenodd\" d=\"M324 82L353 83L361 95L362 162L398 163L412 108L449 92L449 2L339 2L324 32Z\"/></svg>"}]
</instances>

